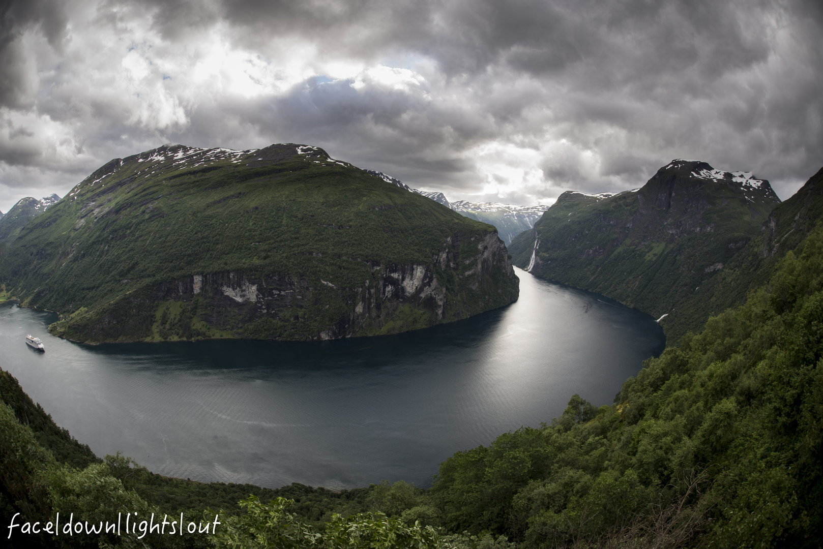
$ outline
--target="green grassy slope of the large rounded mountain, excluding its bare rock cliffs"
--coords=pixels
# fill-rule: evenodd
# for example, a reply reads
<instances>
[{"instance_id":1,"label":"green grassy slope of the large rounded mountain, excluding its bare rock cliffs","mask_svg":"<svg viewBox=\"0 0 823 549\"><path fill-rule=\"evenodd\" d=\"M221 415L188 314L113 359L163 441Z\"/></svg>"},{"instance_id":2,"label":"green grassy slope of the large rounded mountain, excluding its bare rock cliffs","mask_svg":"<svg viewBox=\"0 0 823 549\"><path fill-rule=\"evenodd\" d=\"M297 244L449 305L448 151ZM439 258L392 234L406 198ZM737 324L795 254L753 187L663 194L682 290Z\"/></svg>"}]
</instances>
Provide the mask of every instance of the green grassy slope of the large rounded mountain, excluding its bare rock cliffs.
<instances>
[{"instance_id":1,"label":"green grassy slope of the large rounded mountain, excluding its bare rock cliffs","mask_svg":"<svg viewBox=\"0 0 823 549\"><path fill-rule=\"evenodd\" d=\"M123 338L144 339L160 314L148 303L158 284L209 272L276 272L305 279L317 298L301 319L307 328L286 330L300 339L345 314L342 302L374 278L374 266L432 265L445 240L460 235L459 253L468 256L477 253L470 237L494 230L319 149L294 150L267 147L240 163L171 165L151 160L157 151L112 161L21 231L0 256L0 280L24 305L72 319L80 338L84 325L114 310L125 319ZM452 305L445 320L488 305L458 277L442 282ZM494 283L503 290L491 296L495 306L516 299L511 281Z\"/></svg>"}]
</instances>

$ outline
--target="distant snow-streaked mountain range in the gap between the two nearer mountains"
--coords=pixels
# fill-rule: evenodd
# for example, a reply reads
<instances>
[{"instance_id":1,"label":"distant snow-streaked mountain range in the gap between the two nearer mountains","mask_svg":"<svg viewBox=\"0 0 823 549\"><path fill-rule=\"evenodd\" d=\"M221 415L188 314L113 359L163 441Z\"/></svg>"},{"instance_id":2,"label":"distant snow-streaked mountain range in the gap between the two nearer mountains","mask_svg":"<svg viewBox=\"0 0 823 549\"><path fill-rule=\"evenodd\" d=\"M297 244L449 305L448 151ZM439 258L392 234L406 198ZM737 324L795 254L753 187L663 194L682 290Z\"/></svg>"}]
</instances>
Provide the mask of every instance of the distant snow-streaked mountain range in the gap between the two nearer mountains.
<instances>
[{"instance_id":1,"label":"distant snow-streaked mountain range in the gap between the two nearer mountains","mask_svg":"<svg viewBox=\"0 0 823 549\"><path fill-rule=\"evenodd\" d=\"M467 200L449 202L444 193L411 188L400 179L395 179L383 172L369 170L369 173L412 193L431 198L463 216L495 226L500 238L503 239L506 245L510 244L512 239L523 230L531 229L534 223L543 215L543 212L546 212L549 208L548 206L515 206L514 204L501 204L500 202L469 202Z\"/></svg>"}]
</instances>

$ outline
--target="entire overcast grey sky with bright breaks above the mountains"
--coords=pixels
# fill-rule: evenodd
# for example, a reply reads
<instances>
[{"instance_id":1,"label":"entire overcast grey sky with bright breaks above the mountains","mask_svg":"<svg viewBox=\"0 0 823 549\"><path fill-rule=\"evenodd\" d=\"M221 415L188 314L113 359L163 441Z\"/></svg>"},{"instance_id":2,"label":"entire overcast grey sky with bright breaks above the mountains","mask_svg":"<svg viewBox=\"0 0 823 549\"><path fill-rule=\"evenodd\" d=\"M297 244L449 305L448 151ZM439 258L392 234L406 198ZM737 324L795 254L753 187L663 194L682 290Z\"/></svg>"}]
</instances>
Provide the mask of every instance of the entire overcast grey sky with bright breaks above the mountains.
<instances>
[{"instance_id":1,"label":"entire overcast grey sky with bright breaks above the mountains","mask_svg":"<svg viewBox=\"0 0 823 549\"><path fill-rule=\"evenodd\" d=\"M823 165L818 0L0 2L0 209L179 142L302 142L452 199Z\"/></svg>"}]
</instances>

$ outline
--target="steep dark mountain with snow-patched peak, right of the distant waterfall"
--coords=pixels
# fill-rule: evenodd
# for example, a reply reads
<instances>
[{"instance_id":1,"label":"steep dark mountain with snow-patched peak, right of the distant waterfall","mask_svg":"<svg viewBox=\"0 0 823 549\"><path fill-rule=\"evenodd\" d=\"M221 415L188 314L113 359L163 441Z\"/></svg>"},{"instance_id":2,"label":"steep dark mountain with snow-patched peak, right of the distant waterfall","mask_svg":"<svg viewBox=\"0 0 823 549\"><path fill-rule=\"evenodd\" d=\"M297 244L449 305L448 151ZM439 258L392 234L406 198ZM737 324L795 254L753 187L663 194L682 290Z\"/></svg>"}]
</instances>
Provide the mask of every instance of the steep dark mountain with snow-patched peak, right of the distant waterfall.
<instances>
[{"instance_id":1,"label":"steep dark mountain with snow-patched peak, right of the distant waterfall","mask_svg":"<svg viewBox=\"0 0 823 549\"><path fill-rule=\"evenodd\" d=\"M561 194L509 249L514 264L538 277L673 316L760 235L779 202L769 182L751 174L675 160L642 188ZM686 329L700 329L707 317ZM670 326L663 323L672 342Z\"/></svg>"}]
</instances>

